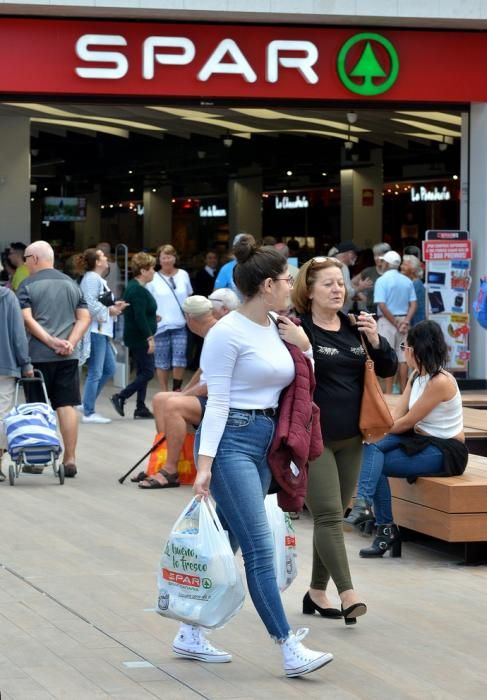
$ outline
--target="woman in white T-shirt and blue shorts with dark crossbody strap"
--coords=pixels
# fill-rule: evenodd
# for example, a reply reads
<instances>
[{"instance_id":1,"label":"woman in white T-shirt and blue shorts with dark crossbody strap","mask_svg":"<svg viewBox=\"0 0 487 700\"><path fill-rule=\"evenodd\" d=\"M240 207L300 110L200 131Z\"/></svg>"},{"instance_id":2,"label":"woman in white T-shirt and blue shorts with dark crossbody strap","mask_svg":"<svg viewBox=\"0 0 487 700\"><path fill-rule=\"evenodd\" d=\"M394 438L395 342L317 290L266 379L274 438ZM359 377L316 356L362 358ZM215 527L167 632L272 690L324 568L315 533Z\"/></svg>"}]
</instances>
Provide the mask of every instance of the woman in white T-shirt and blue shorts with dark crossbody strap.
<instances>
[{"instance_id":1,"label":"woman in white T-shirt and blue shorts with dark crossbody strap","mask_svg":"<svg viewBox=\"0 0 487 700\"><path fill-rule=\"evenodd\" d=\"M172 370L172 388L173 391L178 391L187 364L188 331L183 302L193 293L193 289L186 270L176 267L176 251L172 245L160 246L157 257L161 269L146 286L157 302L154 361L161 390L168 390L169 373Z\"/></svg>"}]
</instances>

